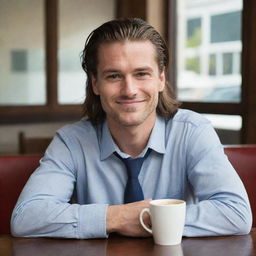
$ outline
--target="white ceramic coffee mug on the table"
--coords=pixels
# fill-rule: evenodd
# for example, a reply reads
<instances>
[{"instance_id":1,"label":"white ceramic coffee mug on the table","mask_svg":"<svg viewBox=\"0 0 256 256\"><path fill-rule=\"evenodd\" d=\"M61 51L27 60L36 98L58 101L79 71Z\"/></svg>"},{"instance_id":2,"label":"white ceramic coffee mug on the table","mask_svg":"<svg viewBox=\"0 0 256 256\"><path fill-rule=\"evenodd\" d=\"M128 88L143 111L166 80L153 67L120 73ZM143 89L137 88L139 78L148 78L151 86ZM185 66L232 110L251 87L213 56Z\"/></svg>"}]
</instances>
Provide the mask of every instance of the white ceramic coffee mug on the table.
<instances>
[{"instance_id":1,"label":"white ceramic coffee mug on the table","mask_svg":"<svg viewBox=\"0 0 256 256\"><path fill-rule=\"evenodd\" d=\"M143 222L143 214L147 212L151 219L152 229ZM140 213L140 223L159 245L176 245L181 243L186 215L186 202L178 199L152 200L149 208Z\"/></svg>"}]
</instances>

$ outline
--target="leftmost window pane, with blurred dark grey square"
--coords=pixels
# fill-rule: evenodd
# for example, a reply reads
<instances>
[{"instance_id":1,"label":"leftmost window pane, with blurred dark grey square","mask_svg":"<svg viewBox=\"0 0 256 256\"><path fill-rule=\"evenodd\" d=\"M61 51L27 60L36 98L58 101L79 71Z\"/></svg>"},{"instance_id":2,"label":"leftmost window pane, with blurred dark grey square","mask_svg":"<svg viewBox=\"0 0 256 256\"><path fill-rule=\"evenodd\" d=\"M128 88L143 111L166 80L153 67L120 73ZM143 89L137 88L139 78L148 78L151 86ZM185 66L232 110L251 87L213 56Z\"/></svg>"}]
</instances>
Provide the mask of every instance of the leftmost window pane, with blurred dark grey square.
<instances>
[{"instance_id":1,"label":"leftmost window pane, with blurred dark grey square","mask_svg":"<svg viewBox=\"0 0 256 256\"><path fill-rule=\"evenodd\" d=\"M0 0L0 105L46 104L43 0Z\"/></svg>"}]
</instances>

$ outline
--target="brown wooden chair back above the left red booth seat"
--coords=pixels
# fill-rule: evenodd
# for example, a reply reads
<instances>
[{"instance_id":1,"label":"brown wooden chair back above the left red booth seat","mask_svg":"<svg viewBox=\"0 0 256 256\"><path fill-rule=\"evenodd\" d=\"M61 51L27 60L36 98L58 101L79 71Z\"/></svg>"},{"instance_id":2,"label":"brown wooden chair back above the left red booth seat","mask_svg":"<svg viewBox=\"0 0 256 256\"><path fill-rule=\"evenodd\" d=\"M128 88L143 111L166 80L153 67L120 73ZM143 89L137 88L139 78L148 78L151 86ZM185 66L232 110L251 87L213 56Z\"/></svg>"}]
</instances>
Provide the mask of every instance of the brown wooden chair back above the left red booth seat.
<instances>
[{"instance_id":1,"label":"brown wooden chair back above the left red booth seat","mask_svg":"<svg viewBox=\"0 0 256 256\"><path fill-rule=\"evenodd\" d=\"M19 154L43 154L52 138L28 138L19 132Z\"/></svg>"}]
</instances>

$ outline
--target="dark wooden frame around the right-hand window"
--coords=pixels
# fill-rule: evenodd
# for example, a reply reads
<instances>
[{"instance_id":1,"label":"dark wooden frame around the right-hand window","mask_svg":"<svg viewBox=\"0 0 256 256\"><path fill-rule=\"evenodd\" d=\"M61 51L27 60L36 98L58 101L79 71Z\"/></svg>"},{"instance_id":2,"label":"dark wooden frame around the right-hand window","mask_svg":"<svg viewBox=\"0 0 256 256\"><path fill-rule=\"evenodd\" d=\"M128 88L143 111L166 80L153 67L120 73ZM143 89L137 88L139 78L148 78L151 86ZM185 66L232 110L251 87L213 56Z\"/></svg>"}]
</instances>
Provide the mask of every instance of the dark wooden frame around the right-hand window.
<instances>
[{"instance_id":1,"label":"dark wooden frame around the right-hand window","mask_svg":"<svg viewBox=\"0 0 256 256\"><path fill-rule=\"evenodd\" d=\"M168 6L167 41L170 46L169 80L174 89L177 89L177 57L176 57L176 32L177 32L177 0L166 0ZM187 108L200 113L240 115L242 117L241 143L256 143L256 2L243 0L242 10L242 59L241 59L241 101L239 103L213 103L213 102L182 102L182 108Z\"/></svg>"}]
</instances>

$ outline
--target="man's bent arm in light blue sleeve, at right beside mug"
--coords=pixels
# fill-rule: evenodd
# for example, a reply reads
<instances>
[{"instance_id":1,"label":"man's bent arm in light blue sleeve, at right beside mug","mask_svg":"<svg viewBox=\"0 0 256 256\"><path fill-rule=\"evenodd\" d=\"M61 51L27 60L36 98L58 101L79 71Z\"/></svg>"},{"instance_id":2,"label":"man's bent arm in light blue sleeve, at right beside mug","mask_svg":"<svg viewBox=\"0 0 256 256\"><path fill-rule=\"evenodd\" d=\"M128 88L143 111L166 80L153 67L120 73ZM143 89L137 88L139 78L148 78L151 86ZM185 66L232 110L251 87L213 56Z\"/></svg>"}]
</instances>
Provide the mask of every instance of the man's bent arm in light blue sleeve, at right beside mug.
<instances>
[{"instance_id":1,"label":"man's bent arm in light blue sleeve, at right beside mug","mask_svg":"<svg viewBox=\"0 0 256 256\"><path fill-rule=\"evenodd\" d=\"M198 202L188 204L184 235L247 234L252 215L245 188L209 124L191 134L188 180Z\"/></svg>"}]
</instances>

